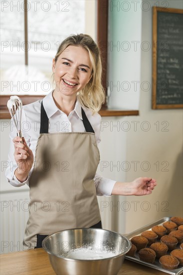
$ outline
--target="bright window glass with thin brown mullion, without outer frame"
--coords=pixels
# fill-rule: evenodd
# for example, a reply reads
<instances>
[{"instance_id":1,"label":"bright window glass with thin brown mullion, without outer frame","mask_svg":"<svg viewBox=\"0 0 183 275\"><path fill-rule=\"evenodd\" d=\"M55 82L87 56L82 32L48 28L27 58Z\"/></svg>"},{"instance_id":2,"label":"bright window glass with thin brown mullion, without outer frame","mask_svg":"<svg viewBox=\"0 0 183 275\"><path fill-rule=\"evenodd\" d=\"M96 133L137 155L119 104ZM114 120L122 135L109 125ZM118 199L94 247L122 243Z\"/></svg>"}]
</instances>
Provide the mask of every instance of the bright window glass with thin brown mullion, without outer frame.
<instances>
[{"instance_id":1,"label":"bright window glass with thin brown mullion, without outer frame","mask_svg":"<svg viewBox=\"0 0 183 275\"><path fill-rule=\"evenodd\" d=\"M1 95L44 95L53 89L52 59L64 38L85 32L85 6L85 0L1 4Z\"/></svg>"}]
</instances>

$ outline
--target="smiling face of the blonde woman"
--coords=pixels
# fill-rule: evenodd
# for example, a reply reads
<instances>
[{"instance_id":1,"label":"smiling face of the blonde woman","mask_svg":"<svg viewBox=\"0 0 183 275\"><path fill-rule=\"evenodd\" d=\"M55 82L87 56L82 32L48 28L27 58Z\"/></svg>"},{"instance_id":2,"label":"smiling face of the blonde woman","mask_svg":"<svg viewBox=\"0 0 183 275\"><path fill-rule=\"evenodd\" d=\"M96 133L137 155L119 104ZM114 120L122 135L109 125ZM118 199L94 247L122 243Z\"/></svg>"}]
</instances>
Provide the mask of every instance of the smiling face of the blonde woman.
<instances>
[{"instance_id":1,"label":"smiling face of the blonde woman","mask_svg":"<svg viewBox=\"0 0 183 275\"><path fill-rule=\"evenodd\" d=\"M52 70L56 82L56 92L63 96L76 96L92 77L92 65L88 51L81 46L68 46L53 59Z\"/></svg>"}]
</instances>

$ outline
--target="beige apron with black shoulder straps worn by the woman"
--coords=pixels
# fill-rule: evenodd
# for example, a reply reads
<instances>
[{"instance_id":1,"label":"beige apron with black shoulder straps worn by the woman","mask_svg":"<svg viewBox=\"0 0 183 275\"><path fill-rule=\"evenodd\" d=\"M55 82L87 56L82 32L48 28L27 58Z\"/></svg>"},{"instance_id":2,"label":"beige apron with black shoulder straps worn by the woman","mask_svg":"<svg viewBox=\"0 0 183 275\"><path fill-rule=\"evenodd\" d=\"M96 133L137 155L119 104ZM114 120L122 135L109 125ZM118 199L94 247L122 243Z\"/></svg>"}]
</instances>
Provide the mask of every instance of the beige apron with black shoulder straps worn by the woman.
<instances>
[{"instance_id":1,"label":"beige apron with black shoulder straps worn by the woman","mask_svg":"<svg viewBox=\"0 0 183 275\"><path fill-rule=\"evenodd\" d=\"M83 109L82 117L86 132L47 133L48 118L41 104L24 249L36 246L37 234L90 227L101 220L93 180L100 155Z\"/></svg>"}]
</instances>

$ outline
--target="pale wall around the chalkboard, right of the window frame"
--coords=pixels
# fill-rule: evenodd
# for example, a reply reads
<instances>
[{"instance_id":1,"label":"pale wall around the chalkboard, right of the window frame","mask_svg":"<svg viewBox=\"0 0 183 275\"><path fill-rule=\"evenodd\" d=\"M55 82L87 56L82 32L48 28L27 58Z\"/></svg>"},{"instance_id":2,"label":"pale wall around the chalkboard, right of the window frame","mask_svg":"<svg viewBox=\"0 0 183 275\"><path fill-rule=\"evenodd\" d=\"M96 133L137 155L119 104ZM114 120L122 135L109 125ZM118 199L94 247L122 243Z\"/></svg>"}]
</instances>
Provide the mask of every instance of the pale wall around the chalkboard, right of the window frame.
<instances>
[{"instance_id":1,"label":"pale wall around the chalkboard, right of the window frame","mask_svg":"<svg viewBox=\"0 0 183 275\"><path fill-rule=\"evenodd\" d=\"M114 2L117 4L119 1ZM131 232L164 216L183 215L183 110L153 110L151 108L152 6L162 3L164 7L167 4L169 7L183 8L183 2L179 0L137 1L137 13L135 14L138 14L138 18L133 16L134 3L132 2L134 1L128 2L129 5L123 6L123 9L130 7L128 11L124 11L122 8L119 10L117 8L112 9L111 19L114 21L110 24L110 32L114 31L112 35L114 41L120 39L124 41L126 40L126 33L129 31L129 42L140 41L144 47L142 46L140 61L137 55L134 56L133 65L130 55L129 62L128 58L126 59L128 56L126 52L110 51L110 66L112 67L109 70L109 79L110 81L115 80L115 82L117 80L122 81L129 74L134 76L134 80L138 80L138 74L135 76L134 72L139 71L140 83L149 83L150 88L147 89L148 85L141 85L139 102L136 92L130 93L131 98L128 100L132 106L134 106L134 98L137 100L136 106L139 106L139 116L109 118L109 123L119 121L120 128L113 127L111 129L112 134L109 134L109 129L102 132L105 143L102 148L106 151L105 157L109 161L112 160L113 163L118 160L120 164L125 163L122 161L128 161L126 162L128 166L122 168L123 170L129 168L129 170L124 172L120 168L120 171L117 171L117 168L113 167L111 172L108 167L105 172L111 173L113 178L127 182L139 176L154 177L157 179L157 187L149 196L116 196L114 198L114 204L117 204L119 209L117 207L110 209L111 215L116 217L113 229L121 233ZM142 12L138 10L138 5L141 5ZM129 24L127 18L130 19ZM141 31L139 31L139 22L141 21L142 36ZM121 30L124 24L123 33ZM136 34L131 31L132 25L134 30L137 28ZM145 41L151 45L150 50L146 50L147 43ZM123 74L120 76L122 72ZM110 101L115 104L116 98L116 106L123 108L127 98L125 93L121 90L120 92L111 92ZM137 129L135 125L137 125ZM113 152L111 156L113 150L115 150L115 154ZM135 162L137 169L134 166Z\"/></svg>"}]
</instances>

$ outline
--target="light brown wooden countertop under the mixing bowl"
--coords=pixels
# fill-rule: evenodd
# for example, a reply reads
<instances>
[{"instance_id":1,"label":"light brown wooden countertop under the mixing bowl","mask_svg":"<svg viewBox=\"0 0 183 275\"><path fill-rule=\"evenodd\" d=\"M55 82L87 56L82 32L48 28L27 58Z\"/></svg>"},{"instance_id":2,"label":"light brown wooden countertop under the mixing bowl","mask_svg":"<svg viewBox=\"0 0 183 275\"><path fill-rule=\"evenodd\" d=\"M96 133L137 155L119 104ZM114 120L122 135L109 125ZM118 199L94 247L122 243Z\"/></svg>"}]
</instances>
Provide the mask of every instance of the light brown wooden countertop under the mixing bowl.
<instances>
[{"instance_id":1,"label":"light brown wooden countertop under the mixing bowl","mask_svg":"<svg viewBox=\"0 0 183 275\"><path fill-rule=\"evenodd\" d=\"M0 255L2 275L55 275L43 248ZM118 275L164 275L165 272L125 259Z\"/></svg>"}]
</instances>

